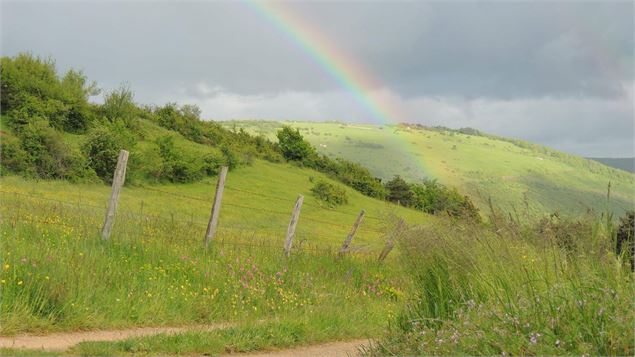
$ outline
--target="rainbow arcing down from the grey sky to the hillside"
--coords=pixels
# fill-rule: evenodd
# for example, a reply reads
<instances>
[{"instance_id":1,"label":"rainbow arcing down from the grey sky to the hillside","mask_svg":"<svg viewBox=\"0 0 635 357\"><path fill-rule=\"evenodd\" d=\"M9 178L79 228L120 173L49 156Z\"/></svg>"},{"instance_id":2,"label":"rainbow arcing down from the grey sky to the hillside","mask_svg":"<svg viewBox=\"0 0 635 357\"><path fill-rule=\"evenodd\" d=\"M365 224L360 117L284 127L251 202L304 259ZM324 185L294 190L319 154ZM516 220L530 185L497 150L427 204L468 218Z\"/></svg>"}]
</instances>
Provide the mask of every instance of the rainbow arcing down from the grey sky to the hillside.
<instances>
[{"instance_id":1,"label":"rainbow arcing down from the grey sky to the hillside","mask_svg":"<svg viewBox=\"0 0 635 357\"><path fill-rule=\"evenodd\" d=\"M383 86L364 66L281 2L245 0L257 14L284 34L291 43L304 52L319 68L333 78L370 114L375 124L398 124L406 122L406 116L389 98L377 95ZM411 144L402 138L399 145L404 155L412 161L422 175L438 177L430 163L411 154Z\"/></svg>"}]
</instances>

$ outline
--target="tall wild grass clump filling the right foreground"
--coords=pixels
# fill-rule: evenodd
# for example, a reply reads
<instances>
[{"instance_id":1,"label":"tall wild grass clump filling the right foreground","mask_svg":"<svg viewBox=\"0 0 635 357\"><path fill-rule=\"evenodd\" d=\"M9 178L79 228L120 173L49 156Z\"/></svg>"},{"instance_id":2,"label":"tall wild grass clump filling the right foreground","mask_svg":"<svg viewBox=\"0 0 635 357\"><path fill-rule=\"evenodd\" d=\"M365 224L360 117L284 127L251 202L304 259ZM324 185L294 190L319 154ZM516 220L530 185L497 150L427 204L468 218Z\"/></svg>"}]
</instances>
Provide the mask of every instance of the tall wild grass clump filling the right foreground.
<instances>
[{"instance_id":1,"label":"tall wild grass clump filling the right foreground","mask_svg":"<svg viewBox=\"0 0 635 357\"><path fill-rule=\"evenodd\" d=\"M633 355L633 275L601 218L413 228L416 293L371 355Z\"/></svg>"}]
</instances>

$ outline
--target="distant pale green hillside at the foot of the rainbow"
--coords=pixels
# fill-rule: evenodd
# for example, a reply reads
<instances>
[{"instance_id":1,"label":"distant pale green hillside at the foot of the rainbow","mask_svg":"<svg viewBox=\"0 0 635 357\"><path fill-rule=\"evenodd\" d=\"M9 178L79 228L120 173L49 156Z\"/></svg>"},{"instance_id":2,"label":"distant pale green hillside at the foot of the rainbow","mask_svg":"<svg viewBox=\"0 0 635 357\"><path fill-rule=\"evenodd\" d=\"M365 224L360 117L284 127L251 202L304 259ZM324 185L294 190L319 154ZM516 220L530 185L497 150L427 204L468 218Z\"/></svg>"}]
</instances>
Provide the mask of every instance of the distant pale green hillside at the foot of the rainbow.
<instances>
[{"instance_id":1,"label":"distant pale green hillside at the foot of the rainbow","mask_svg":"<svg viewBox=\"0 0 635 357\"><path fill-rule=\"evenodd\" d=\"M381 178L432 177L472 196L481 206L489 197L504 209L575 214L601 211L611 182L612 209L632 208L635 178L595 161L520 141L448 130L406 126L314 122L232 121L273 137L283 124L301 130L318 151L368 167Z\"/></svg>"}]
</instances>

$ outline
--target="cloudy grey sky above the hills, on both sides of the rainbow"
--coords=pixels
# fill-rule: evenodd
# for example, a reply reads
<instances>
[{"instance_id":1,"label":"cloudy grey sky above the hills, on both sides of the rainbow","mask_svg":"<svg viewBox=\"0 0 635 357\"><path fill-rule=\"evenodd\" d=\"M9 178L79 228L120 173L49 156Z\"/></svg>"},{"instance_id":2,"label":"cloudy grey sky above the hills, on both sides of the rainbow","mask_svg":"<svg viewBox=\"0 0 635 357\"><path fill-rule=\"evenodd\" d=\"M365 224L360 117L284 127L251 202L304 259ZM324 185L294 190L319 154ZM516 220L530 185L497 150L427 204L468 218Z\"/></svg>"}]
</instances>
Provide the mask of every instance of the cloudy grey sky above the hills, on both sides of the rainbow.
<instances>
[{"instance_id":1,"label":"cloudy grey sky above the hills, on both sides of the rainbow","mask_svg":"<svg viewBox=\"0 0 635 357\"><path fill-rule=\"evenodd\" d=\"M473 127L582 156L634 155L631 1L271 5L372 77L363 95L398 108L394 121ZM197 104L209 120L378 123L257 8L3 0L2 55L51 57L104 93L126 84L139 103Z\"/></svg>"}]
</instances>

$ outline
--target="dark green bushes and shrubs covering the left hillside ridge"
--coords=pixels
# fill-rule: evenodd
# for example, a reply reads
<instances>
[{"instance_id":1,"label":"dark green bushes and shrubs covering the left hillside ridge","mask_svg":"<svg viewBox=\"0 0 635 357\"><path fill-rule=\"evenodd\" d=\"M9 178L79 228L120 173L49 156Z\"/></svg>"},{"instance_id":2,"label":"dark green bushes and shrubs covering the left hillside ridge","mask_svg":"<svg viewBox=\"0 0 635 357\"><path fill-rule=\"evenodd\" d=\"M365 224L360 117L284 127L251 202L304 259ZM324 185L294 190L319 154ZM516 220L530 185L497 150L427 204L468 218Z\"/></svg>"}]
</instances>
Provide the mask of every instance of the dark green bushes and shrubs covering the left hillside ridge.
<instances>
[{"instance_id":1,"label":"dark green bushes and shrubs covering the left hillside ridge","mask_svg":"<svg viewBox=\"0 0 635 357\"><path fill-rule=\"evenodd\" d=\"M52 60L29 54L3 57L1 64L3 172L110 182L118 152L125 149L131 158L129 182L186 183L215 175L223 165L233 169L254 158L286 159L326 173L364 195L425 212L458 215L472 207L467 198L440 185L433 190L393 180L384 187L367 168L318 154L297 129L283 127L278 143L272 143L243 129L203 121L195 105L140 106L126 85L105 93L103 104L93 104L89 97L100 91L82 72L59 76ZM78 141L79 145L69 145ZM440 196L431 197L436 194Z\"/></svg>"}]
</instances>

